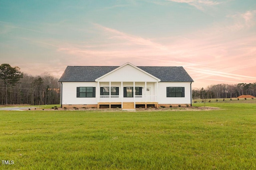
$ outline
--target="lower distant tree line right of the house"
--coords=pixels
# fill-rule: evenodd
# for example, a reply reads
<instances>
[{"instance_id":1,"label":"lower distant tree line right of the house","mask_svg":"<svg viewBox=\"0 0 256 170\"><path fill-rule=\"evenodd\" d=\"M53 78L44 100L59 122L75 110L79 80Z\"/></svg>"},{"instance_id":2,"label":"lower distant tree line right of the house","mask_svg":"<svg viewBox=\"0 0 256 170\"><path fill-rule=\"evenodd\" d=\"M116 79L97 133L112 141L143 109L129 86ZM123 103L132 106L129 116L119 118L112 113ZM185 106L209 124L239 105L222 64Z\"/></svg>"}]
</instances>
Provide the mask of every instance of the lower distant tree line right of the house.
<instances>
[{"instance_id":1,"label":"lower distant tree line right of the house","mask_svg":"<svg viewBox=\"0 0 256 170\"><path fill-rule=\"evenodd\" d=\"M237 98L241 95L256 96L255 83L213 84L204 88L193 88L193 99Z\"/></svg>"}]
</instances>

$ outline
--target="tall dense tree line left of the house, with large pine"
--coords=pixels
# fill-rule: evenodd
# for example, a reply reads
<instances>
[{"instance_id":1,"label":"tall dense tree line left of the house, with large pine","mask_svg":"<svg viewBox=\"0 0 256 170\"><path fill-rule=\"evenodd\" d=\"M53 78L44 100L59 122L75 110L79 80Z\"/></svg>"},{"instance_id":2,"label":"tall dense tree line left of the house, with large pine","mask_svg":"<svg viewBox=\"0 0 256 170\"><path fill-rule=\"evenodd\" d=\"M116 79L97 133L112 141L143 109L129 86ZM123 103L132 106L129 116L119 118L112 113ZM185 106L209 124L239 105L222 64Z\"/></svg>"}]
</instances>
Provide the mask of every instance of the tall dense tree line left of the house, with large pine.
<instances>
[{"instance_id":1,"label":"tall dense tree line left of the house, with large pine","mask_svg":"<svg viewBox=\"0 0 256 170\"><path fill-rule=\"evenodd\" d=\"M4 104L60 104L58 78L47 72L32 76L20 72L18 66L0 65L0 105Z\"/></svg>"}]
</instances>

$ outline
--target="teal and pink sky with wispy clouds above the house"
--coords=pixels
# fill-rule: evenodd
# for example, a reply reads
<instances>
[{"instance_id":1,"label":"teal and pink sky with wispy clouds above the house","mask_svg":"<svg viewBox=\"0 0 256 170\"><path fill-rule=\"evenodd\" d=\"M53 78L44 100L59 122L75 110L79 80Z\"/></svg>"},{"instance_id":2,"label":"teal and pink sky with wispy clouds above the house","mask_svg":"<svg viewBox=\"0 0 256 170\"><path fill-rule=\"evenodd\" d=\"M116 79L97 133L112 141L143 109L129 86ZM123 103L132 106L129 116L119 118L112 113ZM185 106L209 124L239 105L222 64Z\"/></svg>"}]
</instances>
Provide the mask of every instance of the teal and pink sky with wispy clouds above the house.
<instances>
[{"instance_id":1,"label":"teal and pink sky with wispy clouds above the house","mask_svg":"<svg viewBox=\"0 0 256 170\"><path fill-rule=\"evenodd\" d=\"M193 88L256 82L256 0L0 0L0 64L183 66Z\"/></svg>"}]
</instances>

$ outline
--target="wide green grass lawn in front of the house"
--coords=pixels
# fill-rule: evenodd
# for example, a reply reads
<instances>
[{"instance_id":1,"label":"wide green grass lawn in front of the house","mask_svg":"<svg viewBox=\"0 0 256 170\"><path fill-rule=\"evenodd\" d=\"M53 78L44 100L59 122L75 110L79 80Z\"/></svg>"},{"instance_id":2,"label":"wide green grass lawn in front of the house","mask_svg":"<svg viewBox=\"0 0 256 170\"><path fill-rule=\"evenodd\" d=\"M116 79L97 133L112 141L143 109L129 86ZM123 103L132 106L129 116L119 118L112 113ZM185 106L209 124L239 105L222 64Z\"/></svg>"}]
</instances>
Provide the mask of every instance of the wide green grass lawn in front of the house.
<instances>
[{"instance_id":1,"label":"wide green grass lawn in front of the house","mask_svg":"<svg viewBox=\"0 0 256 170\"><path fill-rule=\"evenodd\" d=\"M0 111L0 169L256 169L256 104L205 105L221 109Z\"/></svg>"}]
</instances>

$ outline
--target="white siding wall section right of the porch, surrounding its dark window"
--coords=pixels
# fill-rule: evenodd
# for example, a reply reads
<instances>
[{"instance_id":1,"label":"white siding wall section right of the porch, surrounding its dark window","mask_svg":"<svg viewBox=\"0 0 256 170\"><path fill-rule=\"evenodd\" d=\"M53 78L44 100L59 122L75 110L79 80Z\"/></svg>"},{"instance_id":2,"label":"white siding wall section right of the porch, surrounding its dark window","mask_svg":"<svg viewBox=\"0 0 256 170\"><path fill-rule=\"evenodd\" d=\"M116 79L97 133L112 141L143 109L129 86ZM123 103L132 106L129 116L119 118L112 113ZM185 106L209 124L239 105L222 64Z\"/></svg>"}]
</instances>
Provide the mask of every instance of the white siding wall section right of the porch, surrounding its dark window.
<instances>
[{"instance_id":1,"label":"white siding wall section right of the porch, surrounding its dark window","mask_svg":"<svg viewBox=\"0 0 256 170\"><path fill-rule=\"evenodd\" d=\"M166 87L184 87L184 98L167 98ZM159 82L158 83L158 104L190 104L191 90L190 82Z\"/></svg>"}]
</instances>

